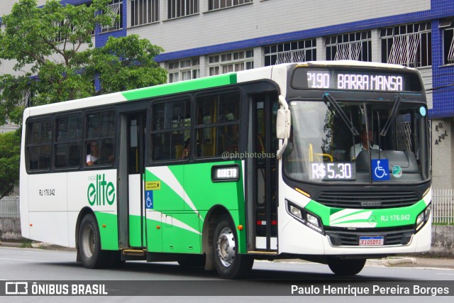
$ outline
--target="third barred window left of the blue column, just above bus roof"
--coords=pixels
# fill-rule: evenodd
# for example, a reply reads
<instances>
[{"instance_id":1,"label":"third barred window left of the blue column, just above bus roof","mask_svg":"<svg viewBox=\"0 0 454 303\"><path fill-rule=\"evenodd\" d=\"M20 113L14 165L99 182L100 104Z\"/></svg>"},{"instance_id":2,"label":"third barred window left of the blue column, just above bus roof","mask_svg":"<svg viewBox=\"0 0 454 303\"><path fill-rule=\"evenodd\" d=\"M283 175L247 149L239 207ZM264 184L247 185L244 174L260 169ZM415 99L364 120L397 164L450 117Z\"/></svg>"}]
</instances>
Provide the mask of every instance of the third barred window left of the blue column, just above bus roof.
<instances>
[{"instance_id":1,"label":"third barred window left of the blue column, just above bus roof","mask_svg":"<svg viewBox=\"0 0 454 303\"><path fill-rule=\"evenodd\" d=\"M265 46L265 66L317 60L316 39Z\"/></svg>"}]
</instances>

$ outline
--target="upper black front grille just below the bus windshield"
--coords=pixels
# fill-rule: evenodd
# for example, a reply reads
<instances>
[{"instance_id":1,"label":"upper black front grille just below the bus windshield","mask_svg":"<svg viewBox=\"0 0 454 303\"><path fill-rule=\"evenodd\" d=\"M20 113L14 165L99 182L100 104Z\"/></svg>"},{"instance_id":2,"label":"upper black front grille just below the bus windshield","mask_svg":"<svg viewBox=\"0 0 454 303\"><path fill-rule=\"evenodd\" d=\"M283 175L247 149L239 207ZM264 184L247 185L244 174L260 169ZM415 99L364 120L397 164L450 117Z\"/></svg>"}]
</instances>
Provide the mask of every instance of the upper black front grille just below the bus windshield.
<instances>
[{"instance_id":1,"label":"upper black front grille just below the bus windshield","mask_svg":"<svg viewBox=\"0 0 454 303\"><path fill-rule=\"evenodd\" d=\"M321 192L316 202L343 209L387 209L411 206L421 198L416 192Z\"/></svg>"}]
</instances>

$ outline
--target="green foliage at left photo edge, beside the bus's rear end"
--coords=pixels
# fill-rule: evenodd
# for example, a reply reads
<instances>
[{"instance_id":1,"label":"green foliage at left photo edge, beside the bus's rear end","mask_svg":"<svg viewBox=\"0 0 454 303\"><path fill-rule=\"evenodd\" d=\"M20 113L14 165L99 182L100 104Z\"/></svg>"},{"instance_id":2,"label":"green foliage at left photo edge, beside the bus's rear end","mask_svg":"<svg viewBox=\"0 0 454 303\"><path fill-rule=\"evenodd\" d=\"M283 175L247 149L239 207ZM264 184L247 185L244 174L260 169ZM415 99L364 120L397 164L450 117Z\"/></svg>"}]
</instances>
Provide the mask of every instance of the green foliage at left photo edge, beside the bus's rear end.
<instances>
[{"instance_id":1,"label":"green foliage at left photo edge, beside the bus's rear end","mask_svg":"<svg viewBox=\"0 0 454 303\"><path fill-rule=\"evenodd\" d=\"M0 199L11 194L18 184L20 154L20 132L0 133Z\"/></svg>"}]
</instances>

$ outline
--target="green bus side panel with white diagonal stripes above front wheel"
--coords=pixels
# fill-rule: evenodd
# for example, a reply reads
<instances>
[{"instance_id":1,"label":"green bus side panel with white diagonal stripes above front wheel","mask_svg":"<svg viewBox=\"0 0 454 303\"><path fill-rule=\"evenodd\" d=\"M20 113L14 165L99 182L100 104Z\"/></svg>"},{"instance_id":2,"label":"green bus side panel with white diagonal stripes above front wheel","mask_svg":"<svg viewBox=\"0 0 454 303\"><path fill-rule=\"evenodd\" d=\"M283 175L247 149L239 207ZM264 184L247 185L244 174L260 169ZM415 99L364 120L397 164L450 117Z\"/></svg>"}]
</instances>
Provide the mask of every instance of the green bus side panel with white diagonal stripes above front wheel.
<instances>
[{"instance_id":1,"label":"green bus side panel with white diagonal stripes above front wheel","mask_svg":"<svg viewBox=\"0 0 454 303\"><path fill-rule=\"evenodd\" d=\"M145 188L147 183L160 184L159 189L148 192L153 198L153 206L146 211L148 250L201 253L201 229L205 219L203 214L216 204L223 205L231 212L235 226L245 225L242 172L238 181L211 180L212 166L241 164L236 162L148 167ZM239 216L239 213L243 215ZM245 233L240 233L239 238L238 251L245 253ZM177 244L178 241L182 243Z\"/></svg>"}]
</instances>

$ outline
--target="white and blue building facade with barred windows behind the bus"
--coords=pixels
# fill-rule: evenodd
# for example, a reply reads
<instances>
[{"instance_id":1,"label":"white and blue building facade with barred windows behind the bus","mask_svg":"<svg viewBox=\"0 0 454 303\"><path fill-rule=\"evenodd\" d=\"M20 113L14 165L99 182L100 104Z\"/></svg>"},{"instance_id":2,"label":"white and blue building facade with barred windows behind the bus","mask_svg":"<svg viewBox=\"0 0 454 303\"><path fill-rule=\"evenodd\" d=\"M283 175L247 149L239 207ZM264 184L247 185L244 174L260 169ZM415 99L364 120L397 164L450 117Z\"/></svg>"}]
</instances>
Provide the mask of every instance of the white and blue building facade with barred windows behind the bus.
<instances>
[{"instance_id":1,"label":"white and blue building facade with barred windows behind the bus","mask_svg":"<svg viewBox=\"0 0 454 303\"><path fill-rule=\"evenodd\" d=\"M1 1L0 13L14 2ZM155 60L169 82L309 60L418 68L428 93L433 187L453 188L453 0L113 0L111 9L120 21L96 29L95 46L110 35L147 38L165 49ZM2 62L0 72L11 66Z\"/></svg>"}]
</instances>

